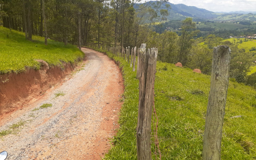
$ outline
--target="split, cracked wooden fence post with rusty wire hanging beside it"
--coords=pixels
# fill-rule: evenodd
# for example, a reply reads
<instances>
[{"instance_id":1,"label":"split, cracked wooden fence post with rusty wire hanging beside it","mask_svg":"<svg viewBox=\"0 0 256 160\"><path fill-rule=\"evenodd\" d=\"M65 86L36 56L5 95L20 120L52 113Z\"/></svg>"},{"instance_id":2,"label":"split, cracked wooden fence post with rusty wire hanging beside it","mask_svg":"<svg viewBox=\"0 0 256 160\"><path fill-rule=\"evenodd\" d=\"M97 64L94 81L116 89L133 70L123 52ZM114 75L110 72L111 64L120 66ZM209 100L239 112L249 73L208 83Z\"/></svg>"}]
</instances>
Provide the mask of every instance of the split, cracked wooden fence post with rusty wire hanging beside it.
<instances>
[{"instance_id":1,"label":"split, cracked wooden fence post with rusty wire hanging beside it","mask_svg":"<svg viewBox=\"0 0 256 160\"><path fill-rule=\"evenodd\" d=\"M139 49L139 108L137 122L137 158L151 160L151 118L154 101L157 48Z\"/></svg>"}]
</instances>

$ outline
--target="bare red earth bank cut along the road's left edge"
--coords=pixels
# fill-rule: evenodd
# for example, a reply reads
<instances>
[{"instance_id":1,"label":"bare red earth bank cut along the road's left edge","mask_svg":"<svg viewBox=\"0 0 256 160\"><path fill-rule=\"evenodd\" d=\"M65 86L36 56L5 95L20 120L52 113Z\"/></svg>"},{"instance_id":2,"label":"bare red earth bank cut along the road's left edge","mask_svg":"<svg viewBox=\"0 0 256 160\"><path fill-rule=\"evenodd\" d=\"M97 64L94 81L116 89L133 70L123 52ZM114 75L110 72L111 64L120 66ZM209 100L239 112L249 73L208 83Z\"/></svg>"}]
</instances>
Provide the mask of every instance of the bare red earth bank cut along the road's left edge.
<instances>
[{"instance_id":1,"label":"bare red earth bank cut along the road's left edge","mask_svg":"<svg viewBox=\"0 0 256 160\"><path fill-rule=\"evenodd\" d=\"M32 100L60 82L67 74L74 70L70 63L64 63L64 70L58 66L49 66L43 60L40 70L26 69L21 73L0 74L0 116L23 106L26 101ZM14 106L19 106L19 108Z\"/></svg>"}]
</instances>

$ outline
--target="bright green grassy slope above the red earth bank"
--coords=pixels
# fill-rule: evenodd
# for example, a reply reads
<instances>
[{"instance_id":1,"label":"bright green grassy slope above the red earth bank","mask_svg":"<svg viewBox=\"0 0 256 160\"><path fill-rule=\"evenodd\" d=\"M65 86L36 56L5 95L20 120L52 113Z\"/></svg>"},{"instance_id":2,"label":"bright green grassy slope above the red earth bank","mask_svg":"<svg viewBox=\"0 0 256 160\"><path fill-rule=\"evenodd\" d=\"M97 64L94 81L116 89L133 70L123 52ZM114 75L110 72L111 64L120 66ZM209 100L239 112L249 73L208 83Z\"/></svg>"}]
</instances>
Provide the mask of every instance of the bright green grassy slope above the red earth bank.
<instances>
[{"instance_id":1,"label":"bright green grassy slope above the red earth bank","mask_svg":"<svg viewBox=\"0 0 256 160\"><path fill-rule=\"evenodd\" d=\"M82 58L83 53L75 46L62 42L33 36L33 41L25 40L25 33L0 26L0 73L21 72L25 67L40 68L35 59L42 59L50 65L60 65L62 62L75 62Z\"/></svg>"}]
</instances>

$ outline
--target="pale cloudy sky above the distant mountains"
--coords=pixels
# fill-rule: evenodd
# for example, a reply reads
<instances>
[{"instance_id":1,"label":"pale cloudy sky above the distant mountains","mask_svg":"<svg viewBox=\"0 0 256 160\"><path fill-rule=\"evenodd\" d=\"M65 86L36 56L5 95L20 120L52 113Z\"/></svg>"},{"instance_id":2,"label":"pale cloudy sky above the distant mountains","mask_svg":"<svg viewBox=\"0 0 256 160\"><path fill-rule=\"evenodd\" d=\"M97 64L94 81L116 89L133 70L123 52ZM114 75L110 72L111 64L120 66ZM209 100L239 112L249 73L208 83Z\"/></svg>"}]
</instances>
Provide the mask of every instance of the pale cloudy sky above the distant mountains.
<instances>
[{"instance_id":1,"label":"pale cloudy sky above the distant mountains","mask_svg":"<svg viewBox=\"0 0 256 160\"><path fill-rule=\"evenodd\" d=\"M195 6L213 12L256 10L256 0L169 0L169 2Z\"/></svg>"}]
</instances>

